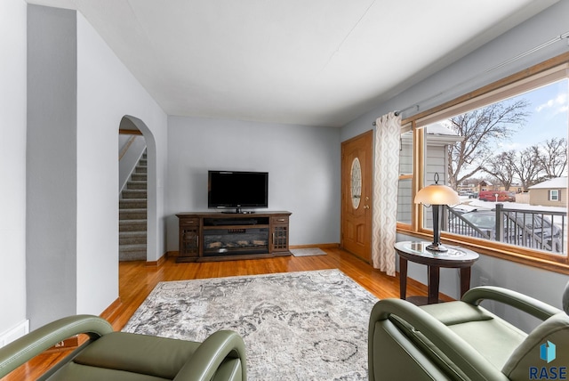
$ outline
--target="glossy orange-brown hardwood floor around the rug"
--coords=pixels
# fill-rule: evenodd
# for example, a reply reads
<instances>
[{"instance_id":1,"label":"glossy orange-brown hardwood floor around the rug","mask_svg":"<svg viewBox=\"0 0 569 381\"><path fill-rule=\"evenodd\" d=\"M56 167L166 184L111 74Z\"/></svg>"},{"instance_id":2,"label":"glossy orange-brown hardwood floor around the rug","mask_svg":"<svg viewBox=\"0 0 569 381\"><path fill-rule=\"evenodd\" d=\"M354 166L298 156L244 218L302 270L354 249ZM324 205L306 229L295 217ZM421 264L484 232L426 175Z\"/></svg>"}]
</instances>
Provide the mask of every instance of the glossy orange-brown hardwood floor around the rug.
<instances>
[{"instance_id":1,"label":"glossy orange-brown hardwood floor around the rug","mask_svg":"<svg viewBox=\"0 0 569 381\"><path fill-rule=\"evenodd\" d=\"M398 277L389 277L340 248L322 247L322 249L327 255L284 256L209 263L176 263L175 258L171 257L159 266L147 266L147 263L143 261L121 262L119 264L120 302L116 303L116 308L109 308L101 316L107 319L115 330L122 329L160 281L196 280L274 272L339 269L380 299L399 297ZM426 296L427 288L410 280L407 282L407 295ZM445 298L445 296L441 297ZM67 353L68 351L59 351L37 356L35 360L16 369L9 377L4 377L2 380L36 379Z\"/></svg>"}]
</instances>

